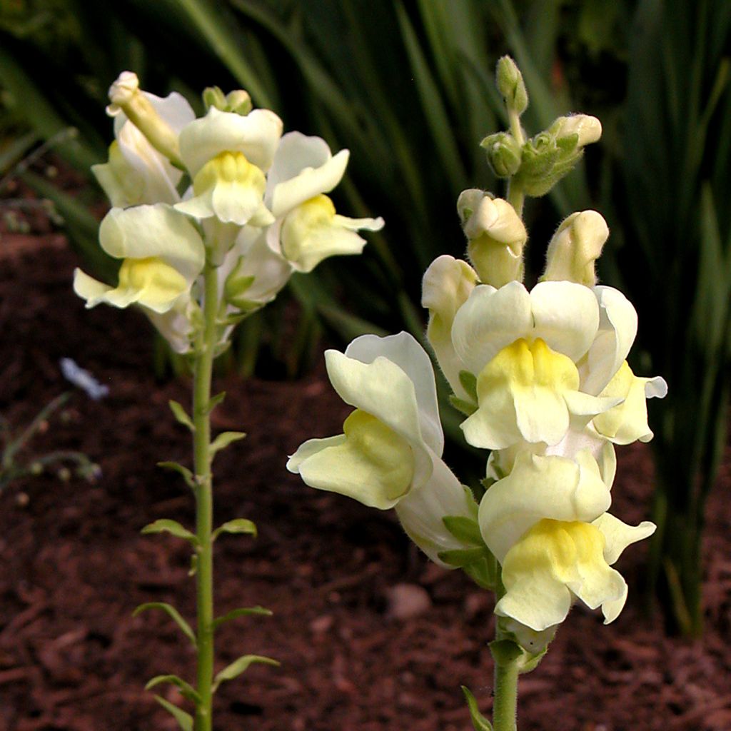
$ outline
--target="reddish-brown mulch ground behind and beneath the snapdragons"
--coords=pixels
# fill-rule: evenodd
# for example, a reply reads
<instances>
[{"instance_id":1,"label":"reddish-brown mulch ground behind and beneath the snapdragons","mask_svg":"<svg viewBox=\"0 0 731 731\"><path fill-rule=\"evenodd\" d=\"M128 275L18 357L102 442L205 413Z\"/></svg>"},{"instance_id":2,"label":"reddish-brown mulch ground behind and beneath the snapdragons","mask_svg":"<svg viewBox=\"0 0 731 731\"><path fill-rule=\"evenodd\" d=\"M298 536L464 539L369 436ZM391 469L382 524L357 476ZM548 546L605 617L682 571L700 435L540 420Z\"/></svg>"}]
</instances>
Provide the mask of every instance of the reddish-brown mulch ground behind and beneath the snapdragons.
<instances>
[{"instance_id":1,"label":"reddish-brown mulch ground behind and beneath the snapdragons","mask_svg":"<svg viewBox=\"0 0 731 731\"><path fill-rule=\"evenodd\" d=\"M27 423L69 388L58 359L72 356L110 387L104 401L77 392L31 444L83 450L96 485L53 475L0 494L0 731L162 731L174 721L145 692L159 673L191 678L193 655L160 613L192 618L186 545L141 536L145 523L190 525L192 499L164 459L186 461L189 439L167 400L187 401L184 379L159 385L151 338L134 311L85 311L70 282L75 257L53 235L0 257L0 413ZM52 246L55 241L56 245ZM20 249L23 249L22 251ZM10 252L10 253L9 253ZM393 515L318 493L284 462L309 436L336 433L346 407L322 372L304 382L219 379L227 391L216 429L249 437L216 461L217 522L254 520L258 539L216 548L216 604L270 607L221 630L219 663L273 656L216 697L218 731L466 731L460 684L491 706L491 600L463 575L428 564ZM651 463L642 445L619 453L615 511L647 515ZM520 682L520 731L728 731L731 729L730 463L709 507L705 544L707 629L692 642L664 637L640 612L646 545L621 559L630 598L615 624L579 607L539 668ZM425 590L414 618L389 614L390 590ZM174 689L163 689L174 702Z\"/></svg>"}]
</instances>

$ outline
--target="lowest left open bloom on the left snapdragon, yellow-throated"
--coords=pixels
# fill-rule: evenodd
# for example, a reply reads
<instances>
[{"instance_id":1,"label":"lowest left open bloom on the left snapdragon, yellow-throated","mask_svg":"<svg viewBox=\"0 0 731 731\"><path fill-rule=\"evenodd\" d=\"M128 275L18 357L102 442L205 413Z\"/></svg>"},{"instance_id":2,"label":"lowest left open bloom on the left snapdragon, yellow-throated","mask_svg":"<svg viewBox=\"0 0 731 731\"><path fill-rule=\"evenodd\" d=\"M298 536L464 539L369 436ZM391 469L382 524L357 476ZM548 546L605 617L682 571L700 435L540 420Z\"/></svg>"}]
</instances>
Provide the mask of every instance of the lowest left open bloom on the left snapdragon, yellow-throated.
<instances>
[{"instance_id":1,"label":"lowest left open bloom on the left snapdragon, yellow-throated","mask_svg":"<svg viewBox=\"0 0 731 731\"><path fill-rule=\"evenodd\" d=\"M193 224L169 205L112 208L99 227L102 249L121 259L119 281L110 287L80 269L74 291L87 307L101 302L132 304L164 314L189 298L205 261L205 249Z\"/></svg>"}]
</instances>

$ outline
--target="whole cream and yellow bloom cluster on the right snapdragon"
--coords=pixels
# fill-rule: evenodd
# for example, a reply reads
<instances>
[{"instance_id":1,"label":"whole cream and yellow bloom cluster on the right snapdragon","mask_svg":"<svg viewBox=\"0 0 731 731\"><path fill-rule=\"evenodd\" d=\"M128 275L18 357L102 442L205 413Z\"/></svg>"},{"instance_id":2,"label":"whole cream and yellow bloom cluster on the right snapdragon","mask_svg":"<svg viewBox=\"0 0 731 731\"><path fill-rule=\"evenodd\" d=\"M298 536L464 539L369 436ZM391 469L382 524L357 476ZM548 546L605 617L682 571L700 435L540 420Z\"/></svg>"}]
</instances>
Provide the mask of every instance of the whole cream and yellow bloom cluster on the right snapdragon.
<instances>
[{"instance_id":1,"label":"whole cream and yellow bloom cluster on the right snapdragon","mask_svg":"<svg viewBox=\"0 0 731 731\"><path fill-rule=\"evenodd\" d=\"M520 281L526 231L510 203L470 190L458 209L474 267L437 258L423 306L466 442L491 450L479 507L441 459L431 364L406 333L327 352L330 380L356 410L341 436L306 442L288 467L315 488L394 507L440 563L467 564L484 542L500 566L496 614L538 651L577 599L602 607L607 622L624 606L626 583L612 564L655 526L607 512L614 445L651 439L646 398L667 386L626 362L637 314L621 292L596 284L609 234L599 213L561 224L529 290Z\"/></svg>"}]
</instances>

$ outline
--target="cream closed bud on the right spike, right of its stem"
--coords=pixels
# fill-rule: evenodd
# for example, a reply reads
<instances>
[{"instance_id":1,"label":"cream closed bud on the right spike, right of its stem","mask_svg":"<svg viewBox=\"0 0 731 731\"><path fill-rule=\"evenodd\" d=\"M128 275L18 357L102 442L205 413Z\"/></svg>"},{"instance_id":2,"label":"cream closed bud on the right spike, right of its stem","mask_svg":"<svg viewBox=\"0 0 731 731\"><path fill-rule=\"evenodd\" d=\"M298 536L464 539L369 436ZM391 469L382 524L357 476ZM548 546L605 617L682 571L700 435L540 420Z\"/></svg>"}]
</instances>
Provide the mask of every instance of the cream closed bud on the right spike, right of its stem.
<instances>
[{"instance_id":1,"label":"cream closed bud on the right spike, right of its stem","mask_svg":"<svg viewBox=\"0 0 731 731\"><path fill-rule=\"evenodd\" d=\"M607 222L596 211L572 213L548 244L542 281L575 281L594 287L594 262L609 238Z\"/></svg>"}]
</instances>

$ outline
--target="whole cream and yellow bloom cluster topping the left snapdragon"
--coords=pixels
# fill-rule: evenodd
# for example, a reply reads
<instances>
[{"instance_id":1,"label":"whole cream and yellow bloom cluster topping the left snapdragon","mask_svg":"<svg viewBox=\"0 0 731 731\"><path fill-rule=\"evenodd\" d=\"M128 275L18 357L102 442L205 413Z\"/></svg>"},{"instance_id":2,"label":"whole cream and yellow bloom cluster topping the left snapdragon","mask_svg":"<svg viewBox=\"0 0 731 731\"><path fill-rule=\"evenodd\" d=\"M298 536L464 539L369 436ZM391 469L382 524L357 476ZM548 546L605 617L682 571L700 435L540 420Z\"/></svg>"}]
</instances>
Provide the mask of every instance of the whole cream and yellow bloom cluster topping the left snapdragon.
<instances>
[{"instance_id":1,"label":"whole cream and yellow bloom cluster topping the left snapdragon","mask_svg":"<svg viewBox=\"0 0 731 731\"><path fill-rule=\"evenodd\" d=\"M93 170L113 205L99 240L121 260L119 279L111 287L80 270L74 279L88 307L143 308L178 352L193 346L206 261L218 268L225 338L225 323L273 300L293 272L360 253L357 232L383 225L341 216L327 196L347 150L333 155L320 137L282 135L281 119L252 110L245 91L211 88L204 100L208 112L196 118L183 96L142 91L132 72L113 83L115 140Z\"/></svg>"}]
</instances>

